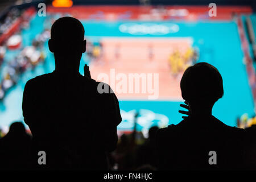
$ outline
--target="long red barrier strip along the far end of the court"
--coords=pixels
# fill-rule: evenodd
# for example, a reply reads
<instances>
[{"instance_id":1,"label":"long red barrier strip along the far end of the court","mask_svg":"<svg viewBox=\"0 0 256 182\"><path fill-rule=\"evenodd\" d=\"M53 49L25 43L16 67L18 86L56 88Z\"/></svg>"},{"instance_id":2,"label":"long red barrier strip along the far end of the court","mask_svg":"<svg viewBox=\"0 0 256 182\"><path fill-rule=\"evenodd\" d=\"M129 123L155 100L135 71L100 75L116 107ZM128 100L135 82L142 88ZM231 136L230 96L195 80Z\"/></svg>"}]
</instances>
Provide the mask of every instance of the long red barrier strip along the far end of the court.
<instances>
[{"instance_id":1,"label":"long red barrier strip along the far end of the court","mask_svg":"<svg viewBox=\"0 0 256 182\"><path fill-rule=\"evenodd\" d=\"M217 6L217 16L208 15L208 6L73 6L53 7L47 6L47 13L71 14L78 19L101 20L230 20L233 14L251 14L250 6Z\"/></svg>"}]
</instances>

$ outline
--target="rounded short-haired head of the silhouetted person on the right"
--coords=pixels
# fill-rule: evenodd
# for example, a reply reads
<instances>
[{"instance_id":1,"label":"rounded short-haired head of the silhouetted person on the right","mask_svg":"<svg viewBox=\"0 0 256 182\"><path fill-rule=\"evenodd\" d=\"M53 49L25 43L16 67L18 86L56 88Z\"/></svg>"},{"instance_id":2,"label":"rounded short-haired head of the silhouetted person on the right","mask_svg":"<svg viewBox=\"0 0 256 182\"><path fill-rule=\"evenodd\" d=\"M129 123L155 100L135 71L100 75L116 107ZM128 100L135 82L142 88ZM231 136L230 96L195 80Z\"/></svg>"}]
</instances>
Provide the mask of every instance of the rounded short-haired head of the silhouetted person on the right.
<instances>
[{"instance_id":1,"label":"rounded short-haired head of the silhouetted person on the right","mask_svg":"<svg viewBox=\"0 0 256 182\"><path fill-rule=\"evenodd\" d=\"M224 94L222 77L208 63L187 68L180 81L181 94L189 104L213 105Z\"/></svg>"}]
</instances>

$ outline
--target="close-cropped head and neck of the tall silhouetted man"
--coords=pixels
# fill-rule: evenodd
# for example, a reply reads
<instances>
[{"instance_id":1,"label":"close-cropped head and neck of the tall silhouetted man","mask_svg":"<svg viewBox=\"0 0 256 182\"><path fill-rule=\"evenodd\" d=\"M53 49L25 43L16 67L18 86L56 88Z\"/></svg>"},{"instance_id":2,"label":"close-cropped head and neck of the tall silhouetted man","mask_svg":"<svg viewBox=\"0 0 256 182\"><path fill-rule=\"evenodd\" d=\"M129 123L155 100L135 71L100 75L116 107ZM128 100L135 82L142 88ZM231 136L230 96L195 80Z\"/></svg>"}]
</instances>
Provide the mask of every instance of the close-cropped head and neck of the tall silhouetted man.
<instances>
[{"instance_id":1,"label":"close-cropped head and neck of the tall silhouetted man","mask_svg":"<svg viewBox=\"0 0 256 182\"><path fill-rule=\"evenodd\" d=\"M86 51L82 23L69 16L57 19L52 24L48 46L55 56L56 71L78 72L82 53Z\"/></svg>"}]
</instances>

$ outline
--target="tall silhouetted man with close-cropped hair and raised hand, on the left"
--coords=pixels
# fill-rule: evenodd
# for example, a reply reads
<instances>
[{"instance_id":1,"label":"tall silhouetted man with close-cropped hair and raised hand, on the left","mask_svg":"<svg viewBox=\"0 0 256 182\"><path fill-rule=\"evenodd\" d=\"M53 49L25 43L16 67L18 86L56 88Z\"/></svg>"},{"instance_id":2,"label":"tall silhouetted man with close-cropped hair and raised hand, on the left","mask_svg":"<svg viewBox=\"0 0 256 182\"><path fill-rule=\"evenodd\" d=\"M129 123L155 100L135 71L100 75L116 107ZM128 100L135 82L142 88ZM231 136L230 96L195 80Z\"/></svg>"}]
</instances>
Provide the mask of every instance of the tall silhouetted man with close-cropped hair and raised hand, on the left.
<instances>
[{"instance_id":1,"label":"tall silhouetted man with close-cropped hair and raised hand, on the left","mask_svg":"<svg viewBox=\"0 0 256 182\"><path fill-rule=\"evenodd\" d=\"M90 78L87 65L85 76L79 73L86 51L81 22L57 19L48 46L54 53L55 71L29 80L23 93L34 164L39 169L107 169L106 152L117 145L122 118L115 94L98 92L100 82ZM46 165L38 164L39 151L46 152Z\"/></svg>"}]
</instances>

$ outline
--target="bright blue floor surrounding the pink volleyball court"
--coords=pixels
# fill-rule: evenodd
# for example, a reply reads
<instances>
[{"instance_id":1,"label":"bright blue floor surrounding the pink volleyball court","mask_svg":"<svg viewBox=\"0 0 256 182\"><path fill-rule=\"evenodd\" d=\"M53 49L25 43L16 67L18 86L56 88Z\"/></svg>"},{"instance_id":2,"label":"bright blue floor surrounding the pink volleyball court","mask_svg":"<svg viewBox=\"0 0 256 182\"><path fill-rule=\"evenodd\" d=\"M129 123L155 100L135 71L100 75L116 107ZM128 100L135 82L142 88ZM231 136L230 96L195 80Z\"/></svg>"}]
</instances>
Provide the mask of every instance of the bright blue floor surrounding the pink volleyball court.
<instances>
[{"instance_id":1,"label":"bright blue floor surrounding the pink volleyball court","mask_svg":"<svg viewBox=\"0 0 256 182\"><path fill-rule=\"evenodd\" d=\"M241 41L238 36L238 28L235 22L170 22L179 26L179 31L165 35L131 35L121 32L119 26L123 23L143 23L143 22L102 22L81 20L85 27L85 36L88 38L100 37L177 37L193 39L193 46L200 50L199 61L208 62L220 71L224 81L224 97L222 97L213 107L213 115L226 125L236 126L236 119L247 113L250 117L254 114L254 102L245 64L243 64L243 52ZM148 22L144 22L148 23ZM167 22L152 22L162 24ZM47 25L46 17L34 15L30 20L30 27L22 30L23 46L31 45L32 39L43 31ZM5 62L0 73L1 78L5 72L5 65L12 60L20 49L6 52ZM44 52L46 60L40 63L33 71L26 71L19 82L7 94L5 100L0 102L0 127L7 129L14 121L23 121L22 116L22 94L26 82L35 76L52 72L55 69L54 57L48 50L45 43ZM90 64L86 53L82 56L80 72L85 63ZM160 73L159 73L160 74ZM171 86L171 85L170 85ZM170 93L171 94L171 93ZM158 125L164 127L172 123L179 123L182 114L178 113L179 104L183 100L119 100L119 106L123 121L118 126L119 130L133 129L133 114L135 110L140 110L137 130L147 130L151 126ZM72 121L71 121L72 125ZM49 126L50 127L50 126Z\"/></svg>"}]
</instances>

